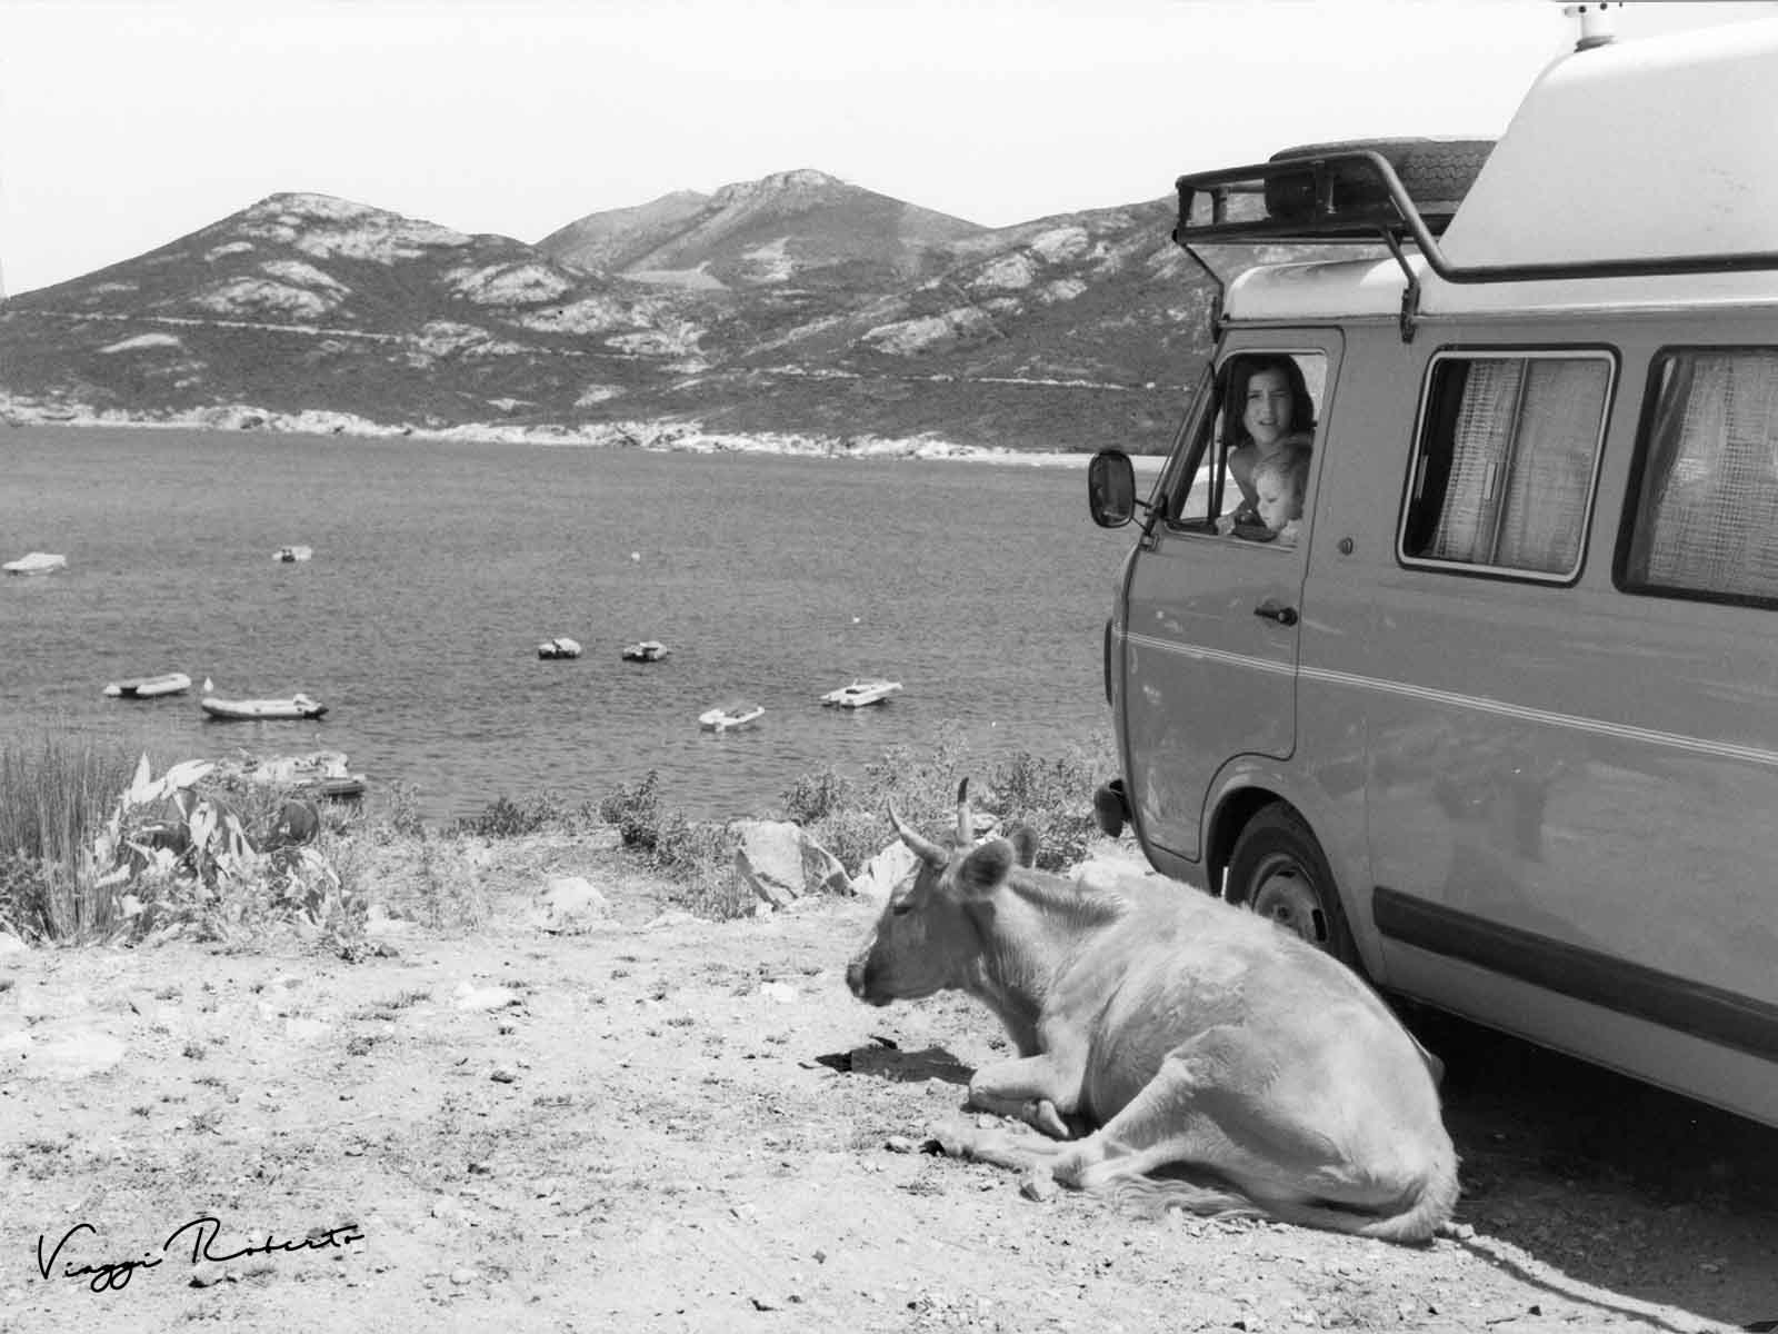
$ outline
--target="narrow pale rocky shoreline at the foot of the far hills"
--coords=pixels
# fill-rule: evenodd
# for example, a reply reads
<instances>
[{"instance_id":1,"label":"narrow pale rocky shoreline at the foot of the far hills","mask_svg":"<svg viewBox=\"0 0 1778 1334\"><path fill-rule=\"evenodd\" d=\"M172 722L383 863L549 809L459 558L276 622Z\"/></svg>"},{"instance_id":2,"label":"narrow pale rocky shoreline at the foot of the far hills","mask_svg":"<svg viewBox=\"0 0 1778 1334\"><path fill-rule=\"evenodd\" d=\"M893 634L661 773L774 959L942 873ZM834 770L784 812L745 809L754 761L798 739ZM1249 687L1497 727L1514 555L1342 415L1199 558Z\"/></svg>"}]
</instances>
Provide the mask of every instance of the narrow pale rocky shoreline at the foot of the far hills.
<instances>
[{"instance_id":1,"label":"narrow pale rocky shoreline at the foot of the far hills","mask_svg":"<svg viewBox=\"0 0 1778 1334\"><path fill-rule=\"evenodd\" d=\"M1090 454L1013 450L960 445L935 432L919 436L807 436L788 430L706 430L701 422L596 422L565 425L503 425L469 422L457 427L386 425L352 413L272 413L245 406L196 407L162 416L103 409L50 407L0 395L0 422L12 427L123 427L137 430L254 430L279 436L348 436L352 439L482 441L546 448L640 448L656 454L777 454L797 459L914 459L1085 468ZM1161 455L1136 455L1141 466Z\"/></svg>"}]
</instances>

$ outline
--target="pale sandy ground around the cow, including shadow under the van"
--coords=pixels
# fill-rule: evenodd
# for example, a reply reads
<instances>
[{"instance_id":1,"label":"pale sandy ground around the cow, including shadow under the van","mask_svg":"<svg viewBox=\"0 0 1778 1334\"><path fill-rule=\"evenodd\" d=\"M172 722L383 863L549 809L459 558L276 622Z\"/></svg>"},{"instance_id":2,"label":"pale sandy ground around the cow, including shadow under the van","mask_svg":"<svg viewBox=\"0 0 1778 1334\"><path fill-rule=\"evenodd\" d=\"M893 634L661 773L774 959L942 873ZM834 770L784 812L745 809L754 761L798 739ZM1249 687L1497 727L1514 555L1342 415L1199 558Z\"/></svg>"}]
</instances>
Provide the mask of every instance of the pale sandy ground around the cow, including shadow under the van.
<instances>
[{"instance_id":1,"label":"pale sandy ground around the cow, including shadow under the van","mask_svg":"<svg viewBox=\"0 0 1778 1334\"><path fill-rule=\"evenodd\" d=\"M544 872L608 911L539 927ZM0 1330L1778 1320L1774 1131L1419 1016L1463 1236L1033 1202L923 1151L1005 1046L967 1001L852 1000L868 904L695 920L594 845L521 879L473 930L398 923L356 962L290 937L0 959Z\"/></svg>"}]
</instances>

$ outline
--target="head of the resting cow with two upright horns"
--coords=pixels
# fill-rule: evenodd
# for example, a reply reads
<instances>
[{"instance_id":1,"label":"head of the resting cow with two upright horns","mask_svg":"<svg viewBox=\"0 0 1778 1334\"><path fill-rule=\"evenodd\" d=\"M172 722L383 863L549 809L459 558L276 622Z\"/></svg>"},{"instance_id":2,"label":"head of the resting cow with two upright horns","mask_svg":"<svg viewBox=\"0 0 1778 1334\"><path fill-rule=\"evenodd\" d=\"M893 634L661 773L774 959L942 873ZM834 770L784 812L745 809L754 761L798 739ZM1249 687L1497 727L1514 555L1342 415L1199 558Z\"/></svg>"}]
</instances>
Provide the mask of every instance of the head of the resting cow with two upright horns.
<instances>
[{"instance_id":1,"label":"head of the resting cow with two upright horns","mask_svg":"<svg viewBox=\"0 0 1778 1334\"><path fill-rule=\"evenodd\" d=\"M919 1000L948 987L965 987L980 971L983 934L973 912L1006 880L1015 863L1031 864L1035 838L1015 829L1010 838L974 845L969 779L957 788L957 832L935 843L909 827L889 804L889 824L919 861L894 888L864 946L846 968L852 994L871 1005Z\"/></svg>"}]
</instances>

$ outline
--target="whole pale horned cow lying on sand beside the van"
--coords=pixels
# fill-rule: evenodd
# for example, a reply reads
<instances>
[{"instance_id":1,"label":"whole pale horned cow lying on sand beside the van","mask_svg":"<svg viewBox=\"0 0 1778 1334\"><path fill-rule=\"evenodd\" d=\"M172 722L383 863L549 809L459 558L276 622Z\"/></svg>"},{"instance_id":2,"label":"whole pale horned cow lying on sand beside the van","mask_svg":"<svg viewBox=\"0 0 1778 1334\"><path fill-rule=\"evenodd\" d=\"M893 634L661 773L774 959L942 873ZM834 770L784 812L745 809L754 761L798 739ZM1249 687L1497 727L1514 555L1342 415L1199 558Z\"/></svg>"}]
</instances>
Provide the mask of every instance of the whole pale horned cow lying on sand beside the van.
<instances>
[{"instance_id":1,"label":"whole pale horned cow lying on sand beside the van","mask_svg":"<svg viewBox=\"0 0 1778 1334\"><path fill-rule=\"evenodd\" d=\"M958 1128L941 1135L948 1151L1149 1209L1392 1242L1451 1217L1456 1151L1433 1076L1342 964L1184 888L1086 889L1031 870L1028 831L971 847L967 783L955 848L893 806L889 820L921 864L846 984L871 1005L949 989L987 1003L1019 1058L976 1071L969 1106L1053 1137Z\"/></svg>"}]
</instances>

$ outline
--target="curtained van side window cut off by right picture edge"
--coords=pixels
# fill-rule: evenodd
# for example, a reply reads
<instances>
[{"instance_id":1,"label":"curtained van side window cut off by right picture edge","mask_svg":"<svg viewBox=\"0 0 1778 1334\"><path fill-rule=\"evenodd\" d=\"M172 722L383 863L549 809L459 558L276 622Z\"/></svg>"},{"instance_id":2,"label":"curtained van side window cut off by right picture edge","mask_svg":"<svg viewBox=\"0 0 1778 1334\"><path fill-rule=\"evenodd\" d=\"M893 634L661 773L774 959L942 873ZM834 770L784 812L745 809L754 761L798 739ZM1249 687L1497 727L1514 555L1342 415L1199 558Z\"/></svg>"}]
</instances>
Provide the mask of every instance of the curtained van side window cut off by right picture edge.
<instances>
[{"instance_id":1,"label":"curtained van side window cut off by right picture edge","mask_svg":"<svg viewBox=\"0 0 1778 1334\"><path fill-rule=\"evenodd\" d=\"M1673 352L1652 375L1622 587L1778 605L1778 352Z\"/></svg>"}]
</instances>

